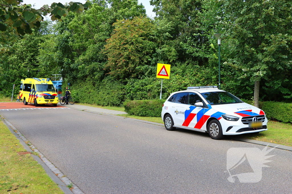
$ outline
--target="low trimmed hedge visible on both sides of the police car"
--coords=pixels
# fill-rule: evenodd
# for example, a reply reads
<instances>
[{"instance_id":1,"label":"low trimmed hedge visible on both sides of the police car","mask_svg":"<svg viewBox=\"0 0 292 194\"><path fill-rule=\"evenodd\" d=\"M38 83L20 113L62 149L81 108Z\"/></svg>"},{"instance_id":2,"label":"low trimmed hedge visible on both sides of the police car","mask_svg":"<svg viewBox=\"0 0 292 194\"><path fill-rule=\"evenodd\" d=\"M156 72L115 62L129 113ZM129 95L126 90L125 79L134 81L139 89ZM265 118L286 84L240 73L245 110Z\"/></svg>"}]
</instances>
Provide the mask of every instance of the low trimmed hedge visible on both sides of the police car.
<instances>
[{"instance_id":1,"label":"low trimmed hedge visible on both sides of the police car","mask_svg":"<svg viewBox=\"0 0 292 194\"><path fill-rule=\"evenodd\" d=\"M161 108L165 100L131 100L124 102L125 112L141 117L161 117ZM245 101L252 104L252 101ZM292 103L259 102L267 118L292 123Z\"/></svg>"}]
</instances>

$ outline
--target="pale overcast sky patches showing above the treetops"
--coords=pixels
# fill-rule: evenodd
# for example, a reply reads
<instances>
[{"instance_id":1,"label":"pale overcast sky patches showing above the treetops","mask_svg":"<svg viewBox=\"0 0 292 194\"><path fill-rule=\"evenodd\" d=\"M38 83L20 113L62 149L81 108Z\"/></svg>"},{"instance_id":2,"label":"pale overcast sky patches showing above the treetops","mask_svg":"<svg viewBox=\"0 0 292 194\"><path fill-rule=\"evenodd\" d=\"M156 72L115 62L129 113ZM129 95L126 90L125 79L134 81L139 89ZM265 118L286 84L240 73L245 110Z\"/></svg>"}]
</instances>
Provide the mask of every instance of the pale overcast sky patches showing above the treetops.
<instances>
[{"instance_id":1,"label":"pale overcast sky patches showing above the treetops","mask_svg":"<svg viewBox=\"0 0 292 194\"><path fill-rule=\"evenodd\" d=\"M62 3L63 5L65 5L65 3L69 3L70 1L73 1L73 2L80 2L80 3L85 3L86 0L23 0L23 3L26 3L26 4L31 4L31 5L35 5L35 8L39 9L41 8L43 5L49 5L51 6L52 3ZM146 9L146 14L153 18L155 16L155 13L152 12L153 10L153 6L150 5L150 0L138 0L139 3L142 3L143 6L145 7Z\"/></svg>"}]
</instances>

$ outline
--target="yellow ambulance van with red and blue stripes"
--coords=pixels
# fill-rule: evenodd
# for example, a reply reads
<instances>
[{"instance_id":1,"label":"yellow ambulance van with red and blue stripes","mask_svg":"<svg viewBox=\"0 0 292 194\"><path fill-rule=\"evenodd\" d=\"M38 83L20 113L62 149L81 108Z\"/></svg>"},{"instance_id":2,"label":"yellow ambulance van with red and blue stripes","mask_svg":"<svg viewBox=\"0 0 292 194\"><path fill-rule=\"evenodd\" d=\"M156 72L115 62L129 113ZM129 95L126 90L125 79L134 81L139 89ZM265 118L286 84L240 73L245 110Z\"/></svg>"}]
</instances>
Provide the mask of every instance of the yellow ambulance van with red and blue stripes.
<instances>
[{"instance_id":1,"label":"yellow ambulance van with red and blue stripes","mask_svg":"<svg viewBox=\"0 0 292 194\"><path fill-rule=\"evenodd\" d=\"M52 81L49 78L26 78L20 83L19 96L23 103L34 104L52 104L57 106L58 94Z\"/></svg>"}]
</instances>

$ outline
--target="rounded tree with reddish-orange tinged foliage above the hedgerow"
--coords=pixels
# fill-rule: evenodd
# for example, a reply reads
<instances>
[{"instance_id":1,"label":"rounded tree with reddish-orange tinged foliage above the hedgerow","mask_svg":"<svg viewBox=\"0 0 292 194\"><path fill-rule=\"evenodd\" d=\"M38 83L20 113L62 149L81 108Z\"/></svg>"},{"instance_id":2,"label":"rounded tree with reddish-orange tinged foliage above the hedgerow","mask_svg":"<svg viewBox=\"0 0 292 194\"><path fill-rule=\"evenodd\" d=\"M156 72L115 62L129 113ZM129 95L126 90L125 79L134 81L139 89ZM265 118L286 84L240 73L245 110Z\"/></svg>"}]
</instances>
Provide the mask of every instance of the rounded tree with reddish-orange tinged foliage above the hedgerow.
<instances>
[{"instance_id":1,"label":"rounded tree with reddish-orange tinged foliage above the hedgerow","mask_svg":"<svg viewBox=\"0 0 292 194\"><path fill-rule=\"evenodd\" d=\"M104 49L109 74L117 79L125 79L147 72L156 47L151 20L147 17L119 20L114 27Z\"/></svg>"}]
</instances>

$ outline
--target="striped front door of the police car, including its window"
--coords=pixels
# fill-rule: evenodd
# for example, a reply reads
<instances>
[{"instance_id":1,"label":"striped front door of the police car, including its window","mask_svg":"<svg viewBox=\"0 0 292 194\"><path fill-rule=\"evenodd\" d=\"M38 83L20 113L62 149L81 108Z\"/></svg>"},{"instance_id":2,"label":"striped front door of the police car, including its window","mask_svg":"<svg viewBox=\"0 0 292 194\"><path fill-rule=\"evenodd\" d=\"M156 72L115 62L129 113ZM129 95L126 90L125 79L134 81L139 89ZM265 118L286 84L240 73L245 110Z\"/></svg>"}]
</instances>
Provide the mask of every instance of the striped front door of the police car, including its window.
<instances>
[{"instance_id":1,"label":"striped front door of the police car, including its window","mask_svg":"<svg viewBox=\"0 0 292 194\"><path fill-rule=\"evenodd\" d=\"M203 100L196 93L190 92L188 98L188 104L190 105L190 113L186 112L187 118L185 124L186 125L188 124L187 127L201 129L205 122L204 113L206 111L205 108L203 107L194 106L194 104L197 102L203 102Z\"/></svg>"}]
</instances>

